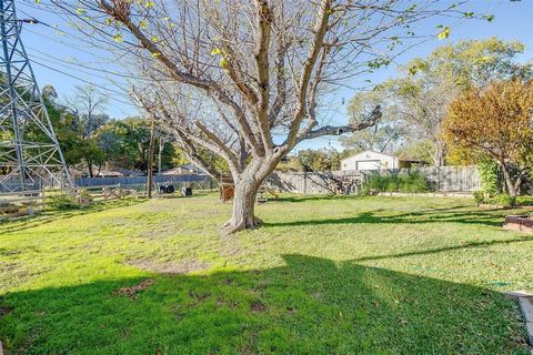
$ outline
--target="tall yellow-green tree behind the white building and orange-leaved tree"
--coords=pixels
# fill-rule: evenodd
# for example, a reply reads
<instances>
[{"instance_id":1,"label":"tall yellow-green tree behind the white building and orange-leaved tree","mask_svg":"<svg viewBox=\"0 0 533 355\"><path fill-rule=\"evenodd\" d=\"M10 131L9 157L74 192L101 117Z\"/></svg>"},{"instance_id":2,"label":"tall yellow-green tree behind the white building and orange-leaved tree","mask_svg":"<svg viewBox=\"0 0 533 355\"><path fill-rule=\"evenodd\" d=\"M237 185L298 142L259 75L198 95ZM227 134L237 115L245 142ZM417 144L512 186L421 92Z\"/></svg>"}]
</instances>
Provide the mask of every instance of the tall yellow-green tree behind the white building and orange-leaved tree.
<instances>
[{"instance_id":1,"label":"tall yellow-green tree behind the white building and orange-leaved tree","mask_svg":"<svg viewBox=\"0 0 533 355\"><path fill-rule=\"evenodd\" d=\"M463 91L483 88L491 80L533 78L531 63L521 63L517 54L524 44L499 38L463 40L436 48L425 58L414 58L400 72L373 91L358 93L348 109L349 116L359 108L382 102L384 119L376 126L356 132L344 140L346 148L378 149L383 142L401 140L403 153L414 145L423 149L434 165L445 163L449 149L442 135L442 121L450 102ZM423 144L418 144L423 141ZM414 152L414 151L413 151ZM457 152L451 159L457 160ZM464 153L462 153L464 158Z\"/></svg>"}]
</instances>

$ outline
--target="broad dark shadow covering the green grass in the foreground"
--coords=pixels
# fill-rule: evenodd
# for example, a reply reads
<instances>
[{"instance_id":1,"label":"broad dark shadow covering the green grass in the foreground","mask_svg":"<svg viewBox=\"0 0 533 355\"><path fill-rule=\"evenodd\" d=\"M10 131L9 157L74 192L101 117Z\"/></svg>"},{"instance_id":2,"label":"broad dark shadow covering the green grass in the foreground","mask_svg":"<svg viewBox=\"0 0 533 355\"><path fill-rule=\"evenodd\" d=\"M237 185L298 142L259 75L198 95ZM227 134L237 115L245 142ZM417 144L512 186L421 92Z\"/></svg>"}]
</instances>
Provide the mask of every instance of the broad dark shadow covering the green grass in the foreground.
<instances>
[{"instance_id":1,"label":"broad dark shadow covering the green grass in the foreground","mask_svg":"<svg viewBox=\"0 0 533 355\"><path fill-rule=\"evenodd\" d=\"M132 300L113 292L143 278L11 293L1 339L8 354L526 354L516 307L499 293L284 260L263 271L154 276Z\"/></svg>"}]
</instances>

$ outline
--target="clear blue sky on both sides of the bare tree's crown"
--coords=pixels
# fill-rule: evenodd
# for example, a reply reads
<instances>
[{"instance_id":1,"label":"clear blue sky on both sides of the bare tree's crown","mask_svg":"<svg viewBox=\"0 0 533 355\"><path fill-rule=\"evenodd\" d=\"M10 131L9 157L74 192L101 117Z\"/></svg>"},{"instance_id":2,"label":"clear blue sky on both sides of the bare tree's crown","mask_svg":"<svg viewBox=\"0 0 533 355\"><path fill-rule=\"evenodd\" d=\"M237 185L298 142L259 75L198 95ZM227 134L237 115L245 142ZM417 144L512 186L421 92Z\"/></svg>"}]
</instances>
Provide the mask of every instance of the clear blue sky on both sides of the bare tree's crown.
<instances>
[{"instance_id":1,"label":"clear blue sky on both sides of the bare tree's crown","mask_svg":"<svg viewBox=\"0 0 533 355\"><path fill-rule=\"evenodd\" d=\"M465 7L475 13L492 13L495 19L492 22L466 20L452 28L450 38L444 41L435 40L425 42L415 47L396 60L396 64L402 64L413 57L424 57L434 50L438 45L457 41L462 39L483 39L491 36L497 36L505 40L520 40L526 45L526 51L521 55L521 61L533 60L533 0L510 1L510 0L471 0ZM33 17L44 23L58 26L67 32L71 32L67 23L60 17L34 7L33 1L18 2L19 18ZM436 26L442 20L435 20ZM32 59L33 70L37 80L43 84L52 84L61 98L71 95L74 85L83 84L82 81L94 83L100 88L107 88L110 97L107 112L115 119L135 114L137 110L127 103L125 93L121 91L113 81L119 81L117 75L105 73L104 71L117 71L113 63L105 60L103 52L83 43L71 36L63 36L53 28L43 24L24 24L22 40L27 51ZM67 63L66 63L67 62ZM79 64L92 69L81 69ZM396 65L390 65L386 69L376 71L364 79L371 79L373 83L379 83L386 78L396 74ZM62 73L58 72L61 71ZM72 77L69 77L72 75ZM362 81L362 80L361 80ZM343 90L336 93L336 98L344 98L346 101L353 94L353 91ZM346 120L341 111L335 114L330 123L345 124ZM339 146L336 138L321 138L312 141L302 142L299 149Z\"/></svg>"}]
</instances>

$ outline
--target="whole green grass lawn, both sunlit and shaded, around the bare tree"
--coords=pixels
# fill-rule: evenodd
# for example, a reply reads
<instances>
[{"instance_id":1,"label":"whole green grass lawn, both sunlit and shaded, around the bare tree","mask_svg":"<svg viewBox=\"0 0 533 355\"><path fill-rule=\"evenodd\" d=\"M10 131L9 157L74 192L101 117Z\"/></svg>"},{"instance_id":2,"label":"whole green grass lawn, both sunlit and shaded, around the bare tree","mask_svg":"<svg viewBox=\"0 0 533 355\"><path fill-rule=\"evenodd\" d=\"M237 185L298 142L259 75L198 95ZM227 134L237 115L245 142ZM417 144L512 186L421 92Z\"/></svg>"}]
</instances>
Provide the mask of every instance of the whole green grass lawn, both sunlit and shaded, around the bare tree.
<instances>
[{"instance_id":1,"label":"whole green grass lawn, both sunlit and shaded, around the bare tree","mask_svg":"<svg viewBox=\"0 0 533 355\"><path fill-rule=\"evenodd\" d=\"M501 229L519 211L285 196L220 236L230 209L121 201L0 224L7 354L527 354L502 295L533 292L533 236Z\"/></svg>"}]
</instances>

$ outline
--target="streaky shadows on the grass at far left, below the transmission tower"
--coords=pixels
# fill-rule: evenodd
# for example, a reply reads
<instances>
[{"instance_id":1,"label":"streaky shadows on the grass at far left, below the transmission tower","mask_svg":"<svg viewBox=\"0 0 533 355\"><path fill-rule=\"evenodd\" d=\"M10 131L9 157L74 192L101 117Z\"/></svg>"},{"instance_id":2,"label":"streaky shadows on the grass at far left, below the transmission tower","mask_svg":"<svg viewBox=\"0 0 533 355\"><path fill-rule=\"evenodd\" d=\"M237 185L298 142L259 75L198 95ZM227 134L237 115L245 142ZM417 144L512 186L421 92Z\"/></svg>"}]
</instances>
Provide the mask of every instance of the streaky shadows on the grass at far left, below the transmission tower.
<instances>
[{"instance_id":1,"label":"streaky shadows on the grass at far left, below the transmission tower","mask_svg":"<svg viewBox=\"0 0 533 355\"><path fill-rule=\"evenodd\" d=\"M56 221L68 220L71 217L86 215L89 213L97 213L101 211L109 211L113 209L127 207L143 203L145 199L122 199L111 200L105 202L95 202L90 205L82 206L77 210L67 211L44 211L36 215L27 215L11 220L0 220L0 235L6 233L13 233L18 231L24 231L39 225L48 224Z\"/></svg>"}]
</instances>

